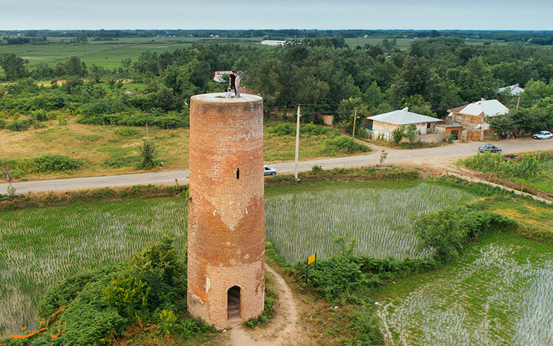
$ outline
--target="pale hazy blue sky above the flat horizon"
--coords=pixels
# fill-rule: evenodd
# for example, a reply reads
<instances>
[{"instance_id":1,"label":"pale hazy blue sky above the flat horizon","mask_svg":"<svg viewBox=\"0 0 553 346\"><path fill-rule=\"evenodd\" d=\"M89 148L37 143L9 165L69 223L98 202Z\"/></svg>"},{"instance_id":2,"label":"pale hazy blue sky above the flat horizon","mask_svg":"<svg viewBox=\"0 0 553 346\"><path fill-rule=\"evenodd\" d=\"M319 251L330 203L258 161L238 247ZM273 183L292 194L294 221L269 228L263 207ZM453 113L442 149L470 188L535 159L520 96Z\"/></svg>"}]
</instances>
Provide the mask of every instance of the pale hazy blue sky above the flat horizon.
<instances>
[{"instance_id":1,"label":"pale hazy blue sky above the flat horizon","mask_svg":"<svg viewBox=\"0 0 553 346\"><path fill-rule=\"evenodd\" d=\"M0 30L553 30L552 0L0 0Z\"/></svg>"}]
</instances>

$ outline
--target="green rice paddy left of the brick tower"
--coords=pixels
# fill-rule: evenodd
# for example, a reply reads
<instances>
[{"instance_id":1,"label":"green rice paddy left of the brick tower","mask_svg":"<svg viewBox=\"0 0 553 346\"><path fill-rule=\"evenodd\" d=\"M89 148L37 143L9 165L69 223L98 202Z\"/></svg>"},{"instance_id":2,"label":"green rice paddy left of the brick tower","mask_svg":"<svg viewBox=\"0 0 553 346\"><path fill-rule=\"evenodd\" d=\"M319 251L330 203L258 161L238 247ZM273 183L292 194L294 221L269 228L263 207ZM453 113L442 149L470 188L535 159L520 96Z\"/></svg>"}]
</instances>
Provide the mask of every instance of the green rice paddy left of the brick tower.
<instances>
[{"instance_id":1,"label":"green rice paddy left of the brick tower","mask_svg":"<svg viewBox=\"0 0 553 346\"><path fill-rule=\"evenodd\" d=\"M2 212L0 336L34 330L41 294L71 273L126 260L167 231L182 251L187 215L182 198Z\"/></svg>"}]
</instances>

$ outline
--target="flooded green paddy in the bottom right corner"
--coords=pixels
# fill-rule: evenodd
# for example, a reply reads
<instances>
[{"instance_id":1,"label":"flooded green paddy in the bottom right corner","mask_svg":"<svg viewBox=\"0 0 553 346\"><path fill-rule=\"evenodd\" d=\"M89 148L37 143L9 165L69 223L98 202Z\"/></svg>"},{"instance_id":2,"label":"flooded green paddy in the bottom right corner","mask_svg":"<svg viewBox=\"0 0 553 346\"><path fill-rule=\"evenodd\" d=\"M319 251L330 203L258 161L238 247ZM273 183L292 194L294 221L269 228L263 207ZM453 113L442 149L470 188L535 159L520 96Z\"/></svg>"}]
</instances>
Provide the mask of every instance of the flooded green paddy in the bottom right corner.
<instances>
[{"instance_id":1,"label":"flooded green paddy in the bottom right corner","mask_svg":"<svg viewBox=\"0 0 553 346\"><path fill-rule=\"evenodd\" d=\"M482 238L449 270L390 289L408 286L378 311L386 345L553 345L553 246Z\"/></svg>"}]
</instances>

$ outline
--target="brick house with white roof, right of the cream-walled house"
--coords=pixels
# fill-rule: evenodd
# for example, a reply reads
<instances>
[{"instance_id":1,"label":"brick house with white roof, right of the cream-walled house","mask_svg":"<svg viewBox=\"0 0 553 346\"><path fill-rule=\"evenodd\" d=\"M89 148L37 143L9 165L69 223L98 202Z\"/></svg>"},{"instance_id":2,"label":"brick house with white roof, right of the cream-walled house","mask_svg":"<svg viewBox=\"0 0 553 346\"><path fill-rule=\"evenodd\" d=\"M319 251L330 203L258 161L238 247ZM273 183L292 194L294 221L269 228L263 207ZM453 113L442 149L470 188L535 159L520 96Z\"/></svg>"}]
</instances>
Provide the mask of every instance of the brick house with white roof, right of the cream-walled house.
<instances>
[{"instance_id":1,"label":"brick house with white roof, right of the cream-walled house","mask_svg":"<svg viewBox=\"0 0 553 346\"><path fill-rule=\"evenodd\" d=\"M447 111L449 111L448 120L469 129L487 129L489 125L485 122L486 118L509 113L509 109L498 100L486 100L485 98Z\"/></svg>"}]
</instances>

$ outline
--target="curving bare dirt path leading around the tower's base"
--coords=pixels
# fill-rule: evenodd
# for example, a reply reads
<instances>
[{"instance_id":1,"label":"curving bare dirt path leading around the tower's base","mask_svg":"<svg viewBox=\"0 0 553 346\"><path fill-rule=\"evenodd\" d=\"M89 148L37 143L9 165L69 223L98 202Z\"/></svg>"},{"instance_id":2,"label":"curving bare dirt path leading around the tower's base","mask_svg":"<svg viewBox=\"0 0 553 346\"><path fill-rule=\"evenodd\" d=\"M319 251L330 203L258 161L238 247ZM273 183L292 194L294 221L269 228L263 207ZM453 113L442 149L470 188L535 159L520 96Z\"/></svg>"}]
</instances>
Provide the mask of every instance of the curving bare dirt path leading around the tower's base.
<instances>
[{"instance_id":1,"label":"curving bare dirt path leading around the tower's base","mask_svg":"<svg viewBox=\"0 0 553 346\"><path fill-rule=\"evenodd\" d=\"M265 329L245 329L241 323L235 322L229 331L230 345L232 346L278 346L303 345L306 340L299 325L298 304L294 300L290 287L284 279L270 266L265 266L275 283L275 290L279 295L277 316Z\"/></svg>"}]
</instances>

